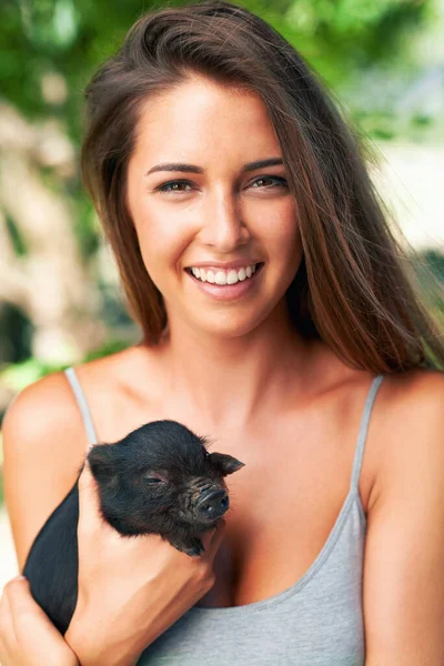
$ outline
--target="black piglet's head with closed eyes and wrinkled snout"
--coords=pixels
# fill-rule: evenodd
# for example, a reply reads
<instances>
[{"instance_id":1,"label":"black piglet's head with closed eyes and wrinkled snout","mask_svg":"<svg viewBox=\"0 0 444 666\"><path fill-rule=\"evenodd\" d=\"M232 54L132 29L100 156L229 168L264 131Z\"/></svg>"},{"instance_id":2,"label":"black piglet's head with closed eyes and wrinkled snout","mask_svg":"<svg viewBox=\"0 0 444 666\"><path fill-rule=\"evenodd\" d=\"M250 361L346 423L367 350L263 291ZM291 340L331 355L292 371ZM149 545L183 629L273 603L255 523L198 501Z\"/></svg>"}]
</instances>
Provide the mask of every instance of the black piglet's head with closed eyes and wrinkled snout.
<instances>
[{"instance_id":1,"label":"black piglet's head with closed eyes and wrinkled snout","mask_svg":"<svg viewBox=\"0 0 444 666\"><path fill-rule=\"evenodd\" d=\"M224 476L243 463L210 453L208 441L175 421L153 421L88 454L103 517L121 534L199 533L229 508Z\"/></svg>"}]
</instances>

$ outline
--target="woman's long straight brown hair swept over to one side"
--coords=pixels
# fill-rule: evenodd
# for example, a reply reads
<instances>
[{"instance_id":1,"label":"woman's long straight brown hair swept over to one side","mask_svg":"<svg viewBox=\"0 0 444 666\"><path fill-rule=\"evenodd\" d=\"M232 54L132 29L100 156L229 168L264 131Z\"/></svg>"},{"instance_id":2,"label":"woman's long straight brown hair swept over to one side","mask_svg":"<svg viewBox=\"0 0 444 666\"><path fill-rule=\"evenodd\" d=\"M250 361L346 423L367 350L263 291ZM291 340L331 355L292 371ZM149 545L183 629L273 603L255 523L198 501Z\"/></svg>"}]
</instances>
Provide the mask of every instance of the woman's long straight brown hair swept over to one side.
<instances>
[{"instance_id":1,"label":"woman's long straight brown hair swept over to one side","mask_svg":"<svg viewBox=\"0 0 444 666\"><path fill-rule=\"evenodd\" d=\"M145 342L158 343L167 315L128 211L127 167L142 107L192 72L254 91L268 108L300 215L303 259L286 302L301 335L374 373L444 365L438 322L422 304L346 122L279 32L223 0L144 14L85 91L82 178Z\"/></svg>"}]
</instances>

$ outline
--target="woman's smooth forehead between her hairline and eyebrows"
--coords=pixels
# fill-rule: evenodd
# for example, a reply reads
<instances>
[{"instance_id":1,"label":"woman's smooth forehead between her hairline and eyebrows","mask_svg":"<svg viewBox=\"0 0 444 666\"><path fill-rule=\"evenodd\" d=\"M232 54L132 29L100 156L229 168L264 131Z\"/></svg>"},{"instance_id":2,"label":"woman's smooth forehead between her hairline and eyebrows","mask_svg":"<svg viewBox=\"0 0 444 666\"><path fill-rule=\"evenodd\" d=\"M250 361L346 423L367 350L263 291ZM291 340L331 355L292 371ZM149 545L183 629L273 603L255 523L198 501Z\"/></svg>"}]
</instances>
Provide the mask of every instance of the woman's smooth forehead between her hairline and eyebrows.
<instances>
[{"instance_id":1,"label":"woman's smooth forehead between her hairline and eyebrows","mask_svg":"<svg viewBox=\"0 0 444 666\"><path fill-rule=\"evenodd\" d=\"M173 160L236 168L258 155L279 153L260 95L193 77L145 102L131 162L142 169Z\"/></svg>"}]
</instances>

